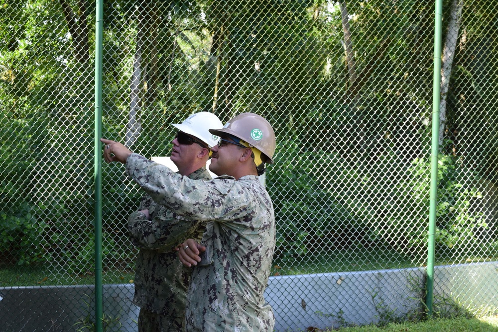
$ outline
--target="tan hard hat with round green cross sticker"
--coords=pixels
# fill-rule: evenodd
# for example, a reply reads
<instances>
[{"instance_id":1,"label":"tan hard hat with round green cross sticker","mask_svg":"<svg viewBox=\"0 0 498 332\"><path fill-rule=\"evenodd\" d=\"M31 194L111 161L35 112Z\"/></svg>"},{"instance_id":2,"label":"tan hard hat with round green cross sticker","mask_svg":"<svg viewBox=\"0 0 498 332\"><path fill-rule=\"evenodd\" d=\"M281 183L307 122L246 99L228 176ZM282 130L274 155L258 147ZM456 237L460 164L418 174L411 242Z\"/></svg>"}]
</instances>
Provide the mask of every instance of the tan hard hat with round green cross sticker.
<instances>
[{"instance_id":1,"label":"tan hard hat with round green cross sticker","mask_svg":"<svg viewBox=\"0 0 498 332\"><path fill-rule=\"evenodd\" d=\"M210 129L209 132L218 136L233 135L261 151L267 159L265 163L273 164L275 133L262 116L242 113L228 121L222 129Z\"/></svg>"}]
</instances>

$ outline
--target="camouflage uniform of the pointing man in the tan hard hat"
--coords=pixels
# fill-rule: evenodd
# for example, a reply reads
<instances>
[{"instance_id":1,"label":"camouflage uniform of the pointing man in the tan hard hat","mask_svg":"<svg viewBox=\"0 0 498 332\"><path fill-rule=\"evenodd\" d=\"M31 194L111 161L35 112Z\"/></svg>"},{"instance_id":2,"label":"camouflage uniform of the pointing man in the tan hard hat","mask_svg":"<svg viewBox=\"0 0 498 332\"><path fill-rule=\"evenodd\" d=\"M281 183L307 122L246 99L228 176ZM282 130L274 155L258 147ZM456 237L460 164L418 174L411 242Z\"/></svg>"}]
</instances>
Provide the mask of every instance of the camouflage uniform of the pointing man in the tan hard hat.
<instances>
[{"instance_id":1,"label":"camouflage uniform of the pointing man in the tan hard hat","mask_svg":"<svg viewBox=\"0 0 498 332\"><path fill-rule=\"evenodd\" d=\"M156 202L182 220L211 221L203 260L187 293L187 331L273 331L263 293L275 248L275 218L255 175L192 181L131 154L126 172Z\"/></svg>"}]
</instances>

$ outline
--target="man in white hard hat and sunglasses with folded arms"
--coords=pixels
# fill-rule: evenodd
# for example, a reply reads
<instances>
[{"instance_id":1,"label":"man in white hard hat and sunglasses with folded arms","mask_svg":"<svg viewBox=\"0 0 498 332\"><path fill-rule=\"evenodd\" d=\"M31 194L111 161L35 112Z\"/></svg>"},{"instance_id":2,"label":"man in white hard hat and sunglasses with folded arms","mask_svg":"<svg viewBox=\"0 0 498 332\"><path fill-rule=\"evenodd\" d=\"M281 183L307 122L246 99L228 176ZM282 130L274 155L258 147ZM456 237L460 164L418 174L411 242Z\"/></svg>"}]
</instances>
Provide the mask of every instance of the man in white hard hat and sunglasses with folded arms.
<instances>
[{"instance_id":1,"label":"man in white hard hat and sunglasses with folded arms","mask_svg":"<svg viewBox=\"0 0 498 332\"><path fill-rule=\"evenodd\" d=\"M171 161L178 173L190 179L210 180L206 169L210 149L219 137L208 129L222 128L218 117L209 112L189 116L171 142ZM139 248L135 263L133 303L140 307L139 332L185 330L186 292L190 273L172 251L187 238L201 239L205 224L179 220L173 211L156 204L149 195L128 218L128 232Z\"/></svg>"}]
</instances>

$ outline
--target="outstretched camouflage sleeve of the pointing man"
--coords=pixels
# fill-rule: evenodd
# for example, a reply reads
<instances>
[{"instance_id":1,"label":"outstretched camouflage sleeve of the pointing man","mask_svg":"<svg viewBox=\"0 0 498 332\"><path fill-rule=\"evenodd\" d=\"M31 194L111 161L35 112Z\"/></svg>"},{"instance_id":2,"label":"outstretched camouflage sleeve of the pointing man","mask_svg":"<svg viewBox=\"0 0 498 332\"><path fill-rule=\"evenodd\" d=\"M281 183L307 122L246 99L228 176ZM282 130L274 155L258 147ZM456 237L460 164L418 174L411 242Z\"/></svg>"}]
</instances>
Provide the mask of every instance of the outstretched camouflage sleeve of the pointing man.
<instances>
[{"instance_id":1,"label":"outstretched camouflage sleeve of the pointing man","mask_svg":"<svg viewBox=\"0 0 498 332\"><path fill-rule=\"evenodd\" d=\"M126 160L126 172L154 201L181 219L234 220L252 213L256 204L253 193L233 177L191 180L137 154Z\"/></svg>"}]
</instances>

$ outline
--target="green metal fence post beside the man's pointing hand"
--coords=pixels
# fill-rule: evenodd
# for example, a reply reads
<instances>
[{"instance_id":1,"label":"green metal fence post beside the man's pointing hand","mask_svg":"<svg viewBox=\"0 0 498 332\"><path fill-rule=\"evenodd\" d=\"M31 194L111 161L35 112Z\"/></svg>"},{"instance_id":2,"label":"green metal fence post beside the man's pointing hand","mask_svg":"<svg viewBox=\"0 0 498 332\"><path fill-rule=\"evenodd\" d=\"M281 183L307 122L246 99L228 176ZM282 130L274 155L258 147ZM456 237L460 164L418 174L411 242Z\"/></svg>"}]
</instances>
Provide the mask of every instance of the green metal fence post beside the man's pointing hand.
<instances>
[{"instance_id":1,"label":"green metal fence post beside the man's pointing hand","mask_svg":"<svg viewBox=\"0 0 498 332\"><path fill-rule=\"evenodd\" d=\"M95 328L103 331L102 288L102 51L103 0L96 3L95 24Z\"/></svg>"}]
</instances>

